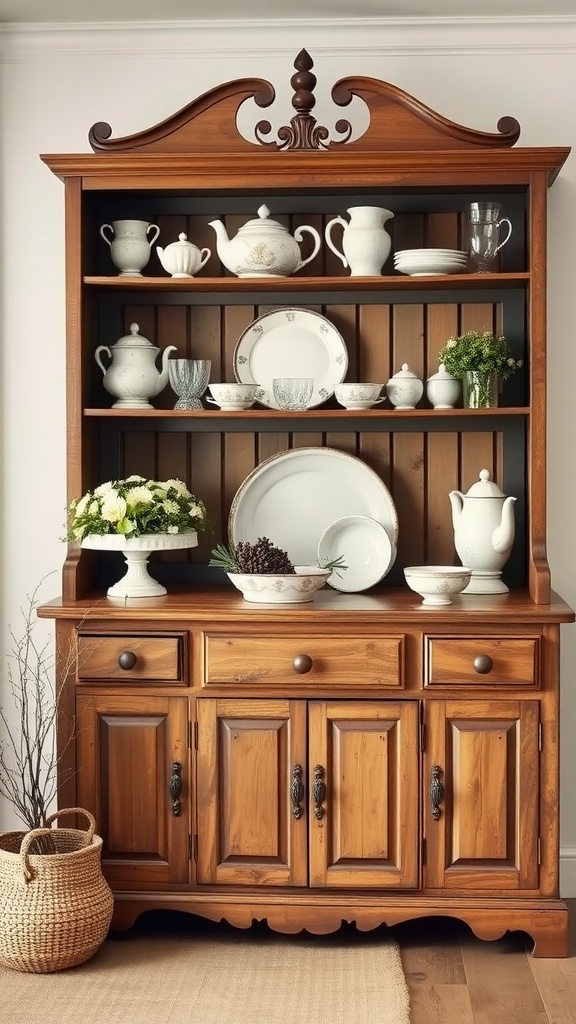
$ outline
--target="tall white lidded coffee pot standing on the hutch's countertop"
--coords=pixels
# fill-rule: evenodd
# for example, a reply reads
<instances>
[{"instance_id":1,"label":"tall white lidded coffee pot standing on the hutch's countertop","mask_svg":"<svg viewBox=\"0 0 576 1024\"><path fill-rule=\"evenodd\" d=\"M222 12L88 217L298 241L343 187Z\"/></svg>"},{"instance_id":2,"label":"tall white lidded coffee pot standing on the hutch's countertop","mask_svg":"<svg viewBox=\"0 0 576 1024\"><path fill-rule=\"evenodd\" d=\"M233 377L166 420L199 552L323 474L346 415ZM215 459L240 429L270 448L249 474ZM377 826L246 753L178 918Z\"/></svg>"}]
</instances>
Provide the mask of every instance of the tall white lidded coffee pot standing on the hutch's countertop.
<instances>
[{"instance_id":1,"label":"tall white lidded coffee pot standing on the hutch's countertop","mask_svg":"<svg viewBox=\"0 0 576 1024\"><path fill-rule=\"evenodd\" d=\"M462 565L472 570L465 594L506 594L500 579L515 539L513 503L502 494L487 469L462 495L451 490L454 545Z\"/></svg>"}]
</instances>

